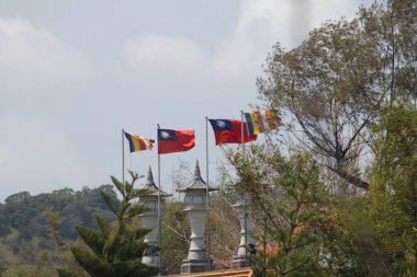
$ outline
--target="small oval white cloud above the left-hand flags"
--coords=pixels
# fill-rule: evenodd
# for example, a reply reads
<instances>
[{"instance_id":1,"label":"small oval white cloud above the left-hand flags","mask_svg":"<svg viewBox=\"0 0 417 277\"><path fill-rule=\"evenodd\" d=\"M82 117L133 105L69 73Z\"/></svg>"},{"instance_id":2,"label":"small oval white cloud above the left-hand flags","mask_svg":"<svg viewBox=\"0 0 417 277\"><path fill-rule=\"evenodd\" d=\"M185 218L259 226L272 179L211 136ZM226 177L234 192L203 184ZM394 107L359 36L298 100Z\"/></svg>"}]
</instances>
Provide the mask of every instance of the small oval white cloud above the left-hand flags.
<instances>
[{"instance_id":1,"label":"small oval white cloud above the left-hand flags","mask_svg":"<svg viewBox=\"0 0 417 277\"><path fill-rule=\"evenodd\" d=\"M191 39L155 33L128 39L122 57L131 68L147 74L190 74L202 70L206 62L206 56Z\"/></svg>"}]
</instances>

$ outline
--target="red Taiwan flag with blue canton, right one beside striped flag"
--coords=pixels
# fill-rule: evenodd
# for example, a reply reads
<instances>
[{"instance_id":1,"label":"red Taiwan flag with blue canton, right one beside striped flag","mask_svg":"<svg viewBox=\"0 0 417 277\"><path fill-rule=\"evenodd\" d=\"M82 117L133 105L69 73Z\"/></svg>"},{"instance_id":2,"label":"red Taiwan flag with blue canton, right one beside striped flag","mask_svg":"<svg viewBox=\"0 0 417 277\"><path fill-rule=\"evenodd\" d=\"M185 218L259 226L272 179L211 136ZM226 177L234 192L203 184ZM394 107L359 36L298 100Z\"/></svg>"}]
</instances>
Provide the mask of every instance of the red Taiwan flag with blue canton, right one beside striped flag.
<instances>
[{"instance_id":1,"label":"red Taiwan flag with blue canton, right one beside striped flag","mask_svg":"<svg viewBox=\"0 0 417 277\"><path fill-rule=\"evenodd\" d=\"M246 143L257 140L257 135L250 135L248 137L248 127L244 123L244 138L241 139L241 122L234 119L208 119L216 138L217 145L225 143Z\"/></svg>"}]
</instances>

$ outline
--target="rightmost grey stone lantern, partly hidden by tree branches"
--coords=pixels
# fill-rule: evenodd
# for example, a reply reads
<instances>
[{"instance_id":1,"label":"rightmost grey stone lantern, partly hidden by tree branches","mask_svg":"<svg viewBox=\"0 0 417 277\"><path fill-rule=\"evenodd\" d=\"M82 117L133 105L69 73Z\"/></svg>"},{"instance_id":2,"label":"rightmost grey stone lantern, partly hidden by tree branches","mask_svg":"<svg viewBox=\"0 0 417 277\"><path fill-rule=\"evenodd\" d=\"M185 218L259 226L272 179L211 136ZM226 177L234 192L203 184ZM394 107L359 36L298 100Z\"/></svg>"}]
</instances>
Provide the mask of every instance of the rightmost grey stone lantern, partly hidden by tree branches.
<instances>
[{"instance_id":1,"label":"rightmost grey stone lantern, partly hidden by tree branches","mask_svg":"<svg viewBox=\"0 0 417 277\"><path fill-rule=\"evenodd\" d=\"M256 240L253 239L253 222L249 216L250 195L243 195L240 200L234 205L239 211L240 222L240 243L237 255L233 259L232 268L243 268L250 266L247 258L250 255L251 247L255 250Z\"/></svg>"}]
</instances>

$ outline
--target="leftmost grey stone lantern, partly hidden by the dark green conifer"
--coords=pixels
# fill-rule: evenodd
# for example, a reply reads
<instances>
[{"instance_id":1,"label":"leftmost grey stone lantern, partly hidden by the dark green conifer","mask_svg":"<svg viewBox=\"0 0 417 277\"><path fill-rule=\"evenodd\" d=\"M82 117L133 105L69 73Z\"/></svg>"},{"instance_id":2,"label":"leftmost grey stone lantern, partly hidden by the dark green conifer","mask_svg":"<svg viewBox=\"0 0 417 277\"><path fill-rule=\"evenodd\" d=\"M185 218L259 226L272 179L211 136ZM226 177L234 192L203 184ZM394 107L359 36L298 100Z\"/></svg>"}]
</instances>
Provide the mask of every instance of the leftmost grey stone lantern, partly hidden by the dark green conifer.
<instances>
[{"instance_id":1,"label":"leftmost grey stone lantern, partly hidden by the dark green conifer","mask_svg":"<svg viewBox=\"0 0 417 277\"><path fill-rule=\"evenodd\" d=\"M138 199L135 199L138 205L144 205L149 208L148 211L142 213L140 223L143 228L150 229L151 231L145 235L145 242L159 246L159 232L158 232L158 187L155 185L153 171L149 166L147 182L144 189L148 189L149 194L140 196ZM162 191L160 192L160 197L168 197L170 194L166 194ZM161 199L162 200L162 199ZM162 206L161 206L162 207ZM162 209L162 208L161 208ZM159 267L160 266L160 252L146 255L142 258L142 263L147 266Z\"/></svg>"}]
</instances>

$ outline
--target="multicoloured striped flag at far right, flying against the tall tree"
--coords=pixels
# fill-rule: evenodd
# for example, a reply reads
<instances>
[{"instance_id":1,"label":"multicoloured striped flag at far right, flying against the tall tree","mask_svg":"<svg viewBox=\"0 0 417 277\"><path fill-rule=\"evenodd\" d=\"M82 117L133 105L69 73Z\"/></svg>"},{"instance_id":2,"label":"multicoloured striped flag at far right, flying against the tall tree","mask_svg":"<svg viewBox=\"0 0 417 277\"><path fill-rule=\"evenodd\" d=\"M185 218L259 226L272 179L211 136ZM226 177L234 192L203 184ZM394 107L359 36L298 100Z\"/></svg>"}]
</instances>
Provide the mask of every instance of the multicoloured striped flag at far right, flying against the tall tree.
<instances>
[{"instance_id":1,"label":"multicoloured striped flag at far right, flying against the tall tree","mask_svg":"<svg viewBox=\"0 0 417 277\"><path fill-rule=\"evenodd\" d=\"M249 135L258 135L281 126L281 118L275 109L256 111L245 113Z\"/></svg>"}]
</instances>

